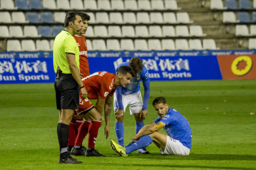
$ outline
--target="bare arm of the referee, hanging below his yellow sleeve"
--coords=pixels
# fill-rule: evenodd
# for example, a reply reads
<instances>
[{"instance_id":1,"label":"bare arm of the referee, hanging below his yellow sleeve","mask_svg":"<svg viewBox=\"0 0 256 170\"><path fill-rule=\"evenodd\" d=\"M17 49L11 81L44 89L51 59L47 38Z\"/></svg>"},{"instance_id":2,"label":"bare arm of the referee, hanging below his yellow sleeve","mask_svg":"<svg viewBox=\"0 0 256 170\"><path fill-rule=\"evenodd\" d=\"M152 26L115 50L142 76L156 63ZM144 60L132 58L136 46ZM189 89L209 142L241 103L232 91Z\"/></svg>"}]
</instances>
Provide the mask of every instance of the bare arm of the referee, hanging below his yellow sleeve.
<instances>
[{"instance_id":1,"label":"bare arm of the referee, hanging below his yellow sleeve","mask_svg":"<svg viewBox=\"0 0 256 170\"><path fill-rule=\"evenodd\" d=\"M77 81L77 84L82 87L83 82L80 78L79 68L77 67L77 63L75 62L75 54L66 54L66 59L72 76L74 77L75 81ZM87 91L85 87L81 88L80 91L83 99L87 98Z\"/></svg>"}]
</instances>

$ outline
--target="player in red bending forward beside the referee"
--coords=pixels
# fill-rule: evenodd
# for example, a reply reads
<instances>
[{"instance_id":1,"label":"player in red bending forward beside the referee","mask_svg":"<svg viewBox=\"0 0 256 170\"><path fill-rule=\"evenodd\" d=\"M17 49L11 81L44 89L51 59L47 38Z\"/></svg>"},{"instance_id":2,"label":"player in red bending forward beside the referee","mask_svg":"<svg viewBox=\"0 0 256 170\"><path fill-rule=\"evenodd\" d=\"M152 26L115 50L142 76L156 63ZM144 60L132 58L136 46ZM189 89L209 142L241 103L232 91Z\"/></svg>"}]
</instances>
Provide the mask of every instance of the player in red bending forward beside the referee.
<instances>
[{"instance_id":1,"label":"player in red bending forward beside the referee","mask_svg":"<svg viewBox=\"0 0 256 170\"><path fill-rule=\"evenodd\" d=\"M109 116L112 109L112 96L116 90L116 86L126 87L130 83L132 76L135 76L134 70L130 66L122 66L117 71L116 75L106 71L99 71L93 73L86 78L83 78L83 84L87 89L87 99L79 99L79 109L75 110L75 115L80 115L85 118L85 121L79 127L79 134L75 140L75 146L72 148L72 155L82 156L97 156L102 157L97 150L95 150L95 142L98 136L98 129L101 126L104 109L105 113L105 136L109 136ZM97 99L94 107L90 99ZM88 121L91 120L91 121ZM84 152L82 150L82 142L88 134L88 148Z\"/></svg>"}]
</instances>

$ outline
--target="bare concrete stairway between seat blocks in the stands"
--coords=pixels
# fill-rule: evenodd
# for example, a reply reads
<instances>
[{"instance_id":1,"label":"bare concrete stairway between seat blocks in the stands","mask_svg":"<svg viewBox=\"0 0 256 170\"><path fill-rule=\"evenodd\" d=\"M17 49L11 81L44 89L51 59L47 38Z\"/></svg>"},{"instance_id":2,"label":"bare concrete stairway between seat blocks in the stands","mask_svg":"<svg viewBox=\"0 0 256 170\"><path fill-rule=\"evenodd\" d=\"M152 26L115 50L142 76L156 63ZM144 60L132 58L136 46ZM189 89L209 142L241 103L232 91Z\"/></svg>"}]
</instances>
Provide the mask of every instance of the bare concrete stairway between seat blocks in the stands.
<instances>
[{"instance_id":1,"label":"bare concrete stairway between seat blocks in the stands","mask_svg":"<svg viewBox=\"0 0 256 170\"><path fill-rule=\"evenodd\" d=\"M177 5L182 9L179 12L189 13L193 25L202 26L206 39L214 39L216 46L221 49L248 49L248 41L241 41L234 34L234 26L224 26L222 14L213 14L210 10L210 1L207 0L179 0ZM219 17L215 20L215 17ZM221 17L221 18L220 18ZM229 29L229 33L226 33Z\"/></svg>"}]
</instances>

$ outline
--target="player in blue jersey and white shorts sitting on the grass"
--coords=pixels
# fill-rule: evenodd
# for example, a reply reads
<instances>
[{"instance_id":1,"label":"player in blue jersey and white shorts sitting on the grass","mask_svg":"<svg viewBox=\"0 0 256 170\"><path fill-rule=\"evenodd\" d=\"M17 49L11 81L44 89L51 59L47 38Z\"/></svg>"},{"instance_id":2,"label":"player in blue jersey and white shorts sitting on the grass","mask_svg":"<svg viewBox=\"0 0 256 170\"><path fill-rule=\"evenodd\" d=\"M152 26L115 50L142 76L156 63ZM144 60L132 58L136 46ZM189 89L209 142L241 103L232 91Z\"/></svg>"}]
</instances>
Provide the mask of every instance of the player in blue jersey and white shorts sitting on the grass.
<instances>
[{"instance_id":1,"label":"player in blue jersey and white shorts sitting on the grass","mask_svg":"<svg viewBox=\"0 0 256 170\"><path fill-rule=\"evenodd\" d=\"M160 148L163 155L189 155L192 144L192 131L189 122L177 110L169 108L164 97L158 97L153 101L158 118L132 137L132 142L122 147L111 140L111 147L117 155L127 156L142 147L148 147L152 142ZM158 132L161 128L168 136Z\"/></svg>"}]
</instances>

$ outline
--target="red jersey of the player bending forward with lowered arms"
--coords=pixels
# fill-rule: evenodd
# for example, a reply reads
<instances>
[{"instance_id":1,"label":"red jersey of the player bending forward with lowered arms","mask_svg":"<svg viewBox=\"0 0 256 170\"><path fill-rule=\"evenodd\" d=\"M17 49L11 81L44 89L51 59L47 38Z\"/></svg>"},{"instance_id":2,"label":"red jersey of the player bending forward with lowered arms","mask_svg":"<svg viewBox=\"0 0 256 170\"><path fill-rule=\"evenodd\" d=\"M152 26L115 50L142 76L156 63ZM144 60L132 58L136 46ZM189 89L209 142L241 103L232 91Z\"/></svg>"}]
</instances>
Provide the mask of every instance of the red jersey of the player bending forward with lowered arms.
<instances>
[{"instance_id":1,"label":"red jersey of the player bending forward with lowered arms","mask_svg":"<svg viewBox=\"0 0 256 170\"><path fill-rule=\"evenodd\" d=\"M104 100L108 95L112 97L114 91L116 91L116 87L114 86L115 79L116 75L107 71L98 71L83 78L82 81L88 92L88 99L98 99L98 95Z\"/></svg>"}]
</instances>

